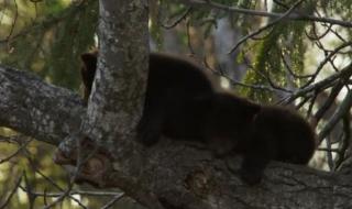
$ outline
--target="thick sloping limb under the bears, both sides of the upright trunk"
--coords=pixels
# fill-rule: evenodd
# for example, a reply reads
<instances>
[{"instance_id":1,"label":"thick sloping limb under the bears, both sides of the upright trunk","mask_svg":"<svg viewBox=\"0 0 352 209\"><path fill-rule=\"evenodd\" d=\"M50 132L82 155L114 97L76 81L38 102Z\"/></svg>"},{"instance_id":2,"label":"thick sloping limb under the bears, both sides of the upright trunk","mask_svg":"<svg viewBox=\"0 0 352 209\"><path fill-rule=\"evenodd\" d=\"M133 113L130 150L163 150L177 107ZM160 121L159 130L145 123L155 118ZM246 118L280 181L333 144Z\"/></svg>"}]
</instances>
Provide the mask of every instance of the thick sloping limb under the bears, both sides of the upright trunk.
<instances>
[{"instance_id":1,"label":"thick sloping limb under the bears, both sides of the upright trunk","mask_svg":"<svg viewBox=\"0 0 352 209\"><path fill-rule=\"evenodd\" d=\"M47 85L25 72L0 67L1 124L56 144L79 127L85 110L70 91ZM15 120L14 120L15 119ZM31 130L32 129L32 130ZM132 136L111 148L102 184L153 208L153 202L185 209L350 208L352 177L301 166L272 163L261 185L249 187L238 175L240 160L215 158L200 144L163 139L143 148Z\"/></svg>"}]
</instances>

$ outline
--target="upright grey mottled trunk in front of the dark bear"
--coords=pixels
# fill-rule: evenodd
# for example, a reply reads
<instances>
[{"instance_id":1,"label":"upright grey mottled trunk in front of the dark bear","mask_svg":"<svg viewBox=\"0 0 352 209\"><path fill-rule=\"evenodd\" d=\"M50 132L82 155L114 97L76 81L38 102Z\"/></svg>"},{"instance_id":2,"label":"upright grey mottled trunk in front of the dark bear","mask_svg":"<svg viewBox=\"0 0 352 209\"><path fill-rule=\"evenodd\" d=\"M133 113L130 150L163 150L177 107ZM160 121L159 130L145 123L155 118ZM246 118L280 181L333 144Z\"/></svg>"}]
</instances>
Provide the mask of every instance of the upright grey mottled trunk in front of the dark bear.
<instances>
[{"instance_id":1,"label":"upright grey mottled trunk in front of the dark bear","mask_svg":"<svg viewBox=\"0 0 352 209\"><path fill-rule=\"evenodd\" d=\"M99 3L100 57L86 123L89 135L107 148L117 138L134 134L147 78L147 1L119 2Z\"/></svg>"}]
</instances>

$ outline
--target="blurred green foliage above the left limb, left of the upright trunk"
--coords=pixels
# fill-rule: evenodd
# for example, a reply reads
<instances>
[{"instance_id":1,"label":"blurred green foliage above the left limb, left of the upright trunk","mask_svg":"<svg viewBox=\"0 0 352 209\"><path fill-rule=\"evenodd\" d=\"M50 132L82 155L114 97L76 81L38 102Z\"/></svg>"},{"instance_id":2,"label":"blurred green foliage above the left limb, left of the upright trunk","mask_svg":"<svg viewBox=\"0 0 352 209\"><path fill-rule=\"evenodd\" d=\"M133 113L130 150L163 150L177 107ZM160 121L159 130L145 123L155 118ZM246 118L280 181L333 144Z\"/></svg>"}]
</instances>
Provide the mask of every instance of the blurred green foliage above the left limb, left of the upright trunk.
<instances>
[{"instance_id":1,"label":"blurred green foliage above the left limb, left of the upright trunk","mask_svg":"<svg viewBox=\"0 0 352 209\"><path fill-rule=\"evenodd\" d=\"M94 44L98 1L0 3L0 59L69 89L79 86L79 55Z\"/></svg>"}]
</instances>

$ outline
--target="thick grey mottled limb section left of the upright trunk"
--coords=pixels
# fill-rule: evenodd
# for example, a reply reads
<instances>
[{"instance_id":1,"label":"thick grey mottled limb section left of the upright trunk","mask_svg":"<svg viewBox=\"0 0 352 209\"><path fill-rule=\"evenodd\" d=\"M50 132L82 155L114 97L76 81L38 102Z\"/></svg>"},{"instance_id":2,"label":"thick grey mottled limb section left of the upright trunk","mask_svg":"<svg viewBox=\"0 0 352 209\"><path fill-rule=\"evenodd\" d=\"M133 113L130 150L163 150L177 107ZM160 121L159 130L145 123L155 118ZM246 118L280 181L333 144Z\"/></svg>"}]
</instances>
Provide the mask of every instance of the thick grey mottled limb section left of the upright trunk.
<instances>
[{"instance_id":1,"label":"thick grey mottled limb section left of the upright trunk","mask_svg":"<svg viewBox=\"0 0 352 209\"><path fill-rule=\"evenodd\" d=\"M0 65L0 125L51 144L79 128L85 111L72 91Z\"/></svg>"}]
</instances>

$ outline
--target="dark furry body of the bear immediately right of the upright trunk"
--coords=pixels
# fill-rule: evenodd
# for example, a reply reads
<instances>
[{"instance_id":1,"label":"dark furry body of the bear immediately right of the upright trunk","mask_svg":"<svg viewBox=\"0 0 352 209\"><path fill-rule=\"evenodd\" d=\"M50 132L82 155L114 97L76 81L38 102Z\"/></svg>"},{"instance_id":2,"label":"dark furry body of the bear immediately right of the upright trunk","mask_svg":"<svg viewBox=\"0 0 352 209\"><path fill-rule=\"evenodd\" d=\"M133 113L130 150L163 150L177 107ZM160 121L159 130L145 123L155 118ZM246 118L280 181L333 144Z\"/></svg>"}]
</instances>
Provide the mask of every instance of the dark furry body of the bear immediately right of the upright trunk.
<instances>
[{"instance_id":1,"label":"dark furry body of the bear immediately right of the upright trunk","mask_svg":"<svg viewBox=\"0 0 352 209\"><path fill-rule=\"evenodd\" d=\"M161 134L174 139L200 139L200 121L213 87L198 65L165 54L150 56L150 75L139 139L155 144ZM200 105L202 103L202 105Z\"/></svg>"}]
</instances>

